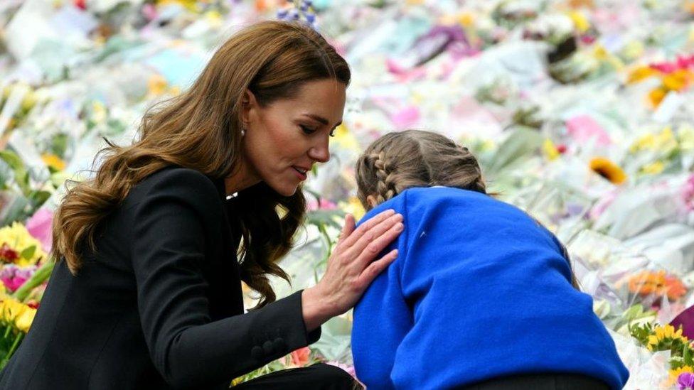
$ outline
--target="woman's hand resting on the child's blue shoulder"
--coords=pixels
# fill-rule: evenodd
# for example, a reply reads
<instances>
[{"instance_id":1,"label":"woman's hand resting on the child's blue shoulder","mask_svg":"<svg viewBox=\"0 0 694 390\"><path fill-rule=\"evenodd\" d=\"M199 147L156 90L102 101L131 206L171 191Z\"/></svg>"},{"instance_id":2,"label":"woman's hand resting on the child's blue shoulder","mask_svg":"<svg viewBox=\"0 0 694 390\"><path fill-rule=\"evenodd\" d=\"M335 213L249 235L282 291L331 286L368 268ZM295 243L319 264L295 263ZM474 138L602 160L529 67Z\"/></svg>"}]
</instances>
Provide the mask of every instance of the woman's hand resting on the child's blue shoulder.
<instances>
[{"instance_id":1,"label":"woman's hand resting on the child's blue shoulder","mask_svg":"<svg viewBox=\"0 0 694 390\"><path fill-rule=\"evenodd\" d=\"M371 281L397 257L394 249L374 261L402 232L402 215L386 210L358 229L354 226L354 217L347 215L325 275L301 295L304 323L309 332L356 305Z\"/></svg>"}]
</instances>

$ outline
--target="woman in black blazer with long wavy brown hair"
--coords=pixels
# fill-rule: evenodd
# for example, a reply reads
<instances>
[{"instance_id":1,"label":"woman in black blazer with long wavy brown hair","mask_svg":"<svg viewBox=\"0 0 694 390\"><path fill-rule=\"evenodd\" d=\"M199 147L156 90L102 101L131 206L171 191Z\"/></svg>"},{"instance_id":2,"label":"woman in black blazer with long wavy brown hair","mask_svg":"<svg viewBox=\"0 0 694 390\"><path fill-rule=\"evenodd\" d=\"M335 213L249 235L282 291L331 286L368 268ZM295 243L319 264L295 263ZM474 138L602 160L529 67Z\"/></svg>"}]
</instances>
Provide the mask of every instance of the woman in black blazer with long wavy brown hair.
<instances>
[{"instance_id":1,"label":"woman in black blazer with long wavy brown hair","mask_svg":"<svg viewBox=\"0 0 694 390\"><path fill-rule=\"evenodd\" d=\"M298 24L258 23L222 45L190 90L144 117L139 141L107 148L65 196L60 261L0 388L223 389L318 340L395 259L373 261L403 228L393 211L356 230L348 218L324 278L275 301L267 277L288 278L276 262L304 217L300 183L329 159L349 80ZM246 314L241 281L262 296ZM319 365L240 387L350 385Z\"/></svg>"}]
</instances>

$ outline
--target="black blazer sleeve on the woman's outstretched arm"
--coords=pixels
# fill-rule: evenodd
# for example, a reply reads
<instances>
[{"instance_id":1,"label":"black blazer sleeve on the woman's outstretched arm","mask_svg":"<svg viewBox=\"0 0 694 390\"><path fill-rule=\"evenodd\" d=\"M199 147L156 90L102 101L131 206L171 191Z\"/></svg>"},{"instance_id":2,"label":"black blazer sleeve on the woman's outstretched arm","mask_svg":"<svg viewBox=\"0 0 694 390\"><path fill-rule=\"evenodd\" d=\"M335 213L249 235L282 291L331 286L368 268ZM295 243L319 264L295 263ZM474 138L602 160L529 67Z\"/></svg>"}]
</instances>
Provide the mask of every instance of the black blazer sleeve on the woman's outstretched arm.
<instances>
[{"instance_id":1,"label":"black blazer sleeve on the woman's outstretched arm","mask_svg":"<svg viewBox=\"0 0 694 390\"><path fill-rule=\"evenodd\" d=\"M196 170L157 173L132 212L132 266L142 330L154 366L173 387L220 384L315 342L301 291L260 310L210 320L205 252L218 245L223 202ZM230 283L237 283L233 278Z\"/></svg>"}]
</instances>

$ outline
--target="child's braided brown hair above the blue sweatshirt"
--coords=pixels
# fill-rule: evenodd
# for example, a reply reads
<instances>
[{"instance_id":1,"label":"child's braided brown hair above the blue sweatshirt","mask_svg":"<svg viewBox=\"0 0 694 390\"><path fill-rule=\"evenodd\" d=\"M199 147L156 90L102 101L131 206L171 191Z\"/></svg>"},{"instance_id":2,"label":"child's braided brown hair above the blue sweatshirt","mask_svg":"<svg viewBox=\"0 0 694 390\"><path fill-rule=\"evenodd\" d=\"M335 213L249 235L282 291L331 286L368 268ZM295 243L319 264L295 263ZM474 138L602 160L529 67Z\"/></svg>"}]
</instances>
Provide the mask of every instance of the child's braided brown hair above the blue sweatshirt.
<instances>
[{"instance_id":1,"label":"child's braided brown hair above the blue sweatshirt","mask_svg":"<svg viewBox=\"0 0 694 390\"><path fill-rule=\"evenodd\" d=\"M486 186L476 158L468 148L441 134L406 130L386 134L360 156L356 166L358 197L377 203L412 187L462 188L486 194Z\"/></svg>"}]
</instances>

